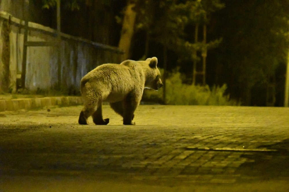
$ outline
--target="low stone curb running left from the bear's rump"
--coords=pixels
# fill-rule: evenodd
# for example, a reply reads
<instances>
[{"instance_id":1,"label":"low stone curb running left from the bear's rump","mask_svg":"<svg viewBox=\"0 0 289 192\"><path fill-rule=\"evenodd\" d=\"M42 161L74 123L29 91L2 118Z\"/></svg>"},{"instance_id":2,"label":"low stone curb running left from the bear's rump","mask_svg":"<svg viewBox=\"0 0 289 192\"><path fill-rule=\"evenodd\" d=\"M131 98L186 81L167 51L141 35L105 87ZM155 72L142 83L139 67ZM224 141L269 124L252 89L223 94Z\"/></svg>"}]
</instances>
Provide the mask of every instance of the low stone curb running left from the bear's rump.
<instances>
[{"instance_id":1,"label":"low stone curb running left from the bear's rump","mask_svg":"<svg viewBox=\"0 0 289 192\"><path fill-rule=\"evenodd\" d=\"M43 97L43 98L21 98L0 100L0 112L3 111L17 111L20 109L38 109L50 106L72 106L83 104L81 97L67 96L67 97Z\"/></svg>"}]
</instances>

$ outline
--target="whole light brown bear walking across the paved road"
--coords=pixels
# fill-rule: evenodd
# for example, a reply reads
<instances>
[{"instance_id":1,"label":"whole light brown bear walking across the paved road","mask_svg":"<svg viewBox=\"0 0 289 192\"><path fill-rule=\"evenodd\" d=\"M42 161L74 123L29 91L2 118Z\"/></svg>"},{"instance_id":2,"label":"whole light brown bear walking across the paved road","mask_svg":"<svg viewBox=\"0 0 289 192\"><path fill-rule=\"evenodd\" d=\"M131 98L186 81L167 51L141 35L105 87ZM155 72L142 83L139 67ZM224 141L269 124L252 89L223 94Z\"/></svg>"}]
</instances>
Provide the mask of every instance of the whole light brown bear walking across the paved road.
<instances>
[{"instance_id":1,"label":"whole light brown bear walking across the paved road","mask_svg":"<svg viewBox=\"0 0 289 192\"><path fill-rule=\"evenodd\" d=\"M102 64L86 74L80 83L84 108L78 123L88 124L92 115L96 125L107 125L109 119L102 117L102 102L123 117L124 125L135 125L134 111L140 104L144 88L158 90L163 83L157 68L158 59L145 61L126 60L121 64Z\"/></svg>"}]
</instances>

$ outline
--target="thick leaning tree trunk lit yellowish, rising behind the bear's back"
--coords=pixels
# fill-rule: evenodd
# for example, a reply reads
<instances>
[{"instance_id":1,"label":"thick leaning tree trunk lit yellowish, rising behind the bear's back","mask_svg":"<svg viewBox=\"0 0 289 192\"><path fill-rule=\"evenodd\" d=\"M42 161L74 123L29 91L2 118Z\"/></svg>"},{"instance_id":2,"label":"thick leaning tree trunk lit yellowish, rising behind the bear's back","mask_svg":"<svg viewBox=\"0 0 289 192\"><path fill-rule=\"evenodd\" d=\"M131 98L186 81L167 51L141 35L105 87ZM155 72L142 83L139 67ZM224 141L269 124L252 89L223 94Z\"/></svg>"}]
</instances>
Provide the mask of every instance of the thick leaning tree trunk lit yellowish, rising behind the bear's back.
<instances>
[{"instance_id":1,"label":"thick leaning tree trunk lit yellowish, rising behind the bear's back","mask_svg":"<svg viewBox=\"0 0 289 192\"><path fill-rule=\"evenodd\" d=\"M121 38L118 47L123 50L123 60L130 58L131 38L134 35L134 23L136 20L136 12L134 11L135 2L129 1L123 17L123 27L121 30Z\"/></svg>"}]
</instances>

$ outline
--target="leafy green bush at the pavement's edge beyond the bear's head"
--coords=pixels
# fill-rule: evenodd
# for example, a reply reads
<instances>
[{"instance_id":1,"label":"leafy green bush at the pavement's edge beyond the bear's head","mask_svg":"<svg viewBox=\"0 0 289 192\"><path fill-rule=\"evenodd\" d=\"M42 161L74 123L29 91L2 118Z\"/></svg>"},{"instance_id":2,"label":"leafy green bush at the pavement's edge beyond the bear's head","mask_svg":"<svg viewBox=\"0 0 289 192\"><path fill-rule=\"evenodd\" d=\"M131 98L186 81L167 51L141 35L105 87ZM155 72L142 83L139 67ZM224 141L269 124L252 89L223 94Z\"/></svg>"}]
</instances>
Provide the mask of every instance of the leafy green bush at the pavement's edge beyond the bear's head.
<instances>
[{"instance_id":1,"label":"leafy green bush at the pavement's edge beyond the bear's head","mask_svg":"<svg viewBox=\"0 0 289 192\"><path fill-rule=\"evenodd\" d=\"M161 73L163 72L160 69ZM171 105L237 105L225 95L227 85L222 87L213 86L212 89L206 86L187 85L181 80L181 73L174 72L166 80L166 104ZM161 102L163 90L153 91L145 89L143 100Z\"/></svg>"}]
</instances>

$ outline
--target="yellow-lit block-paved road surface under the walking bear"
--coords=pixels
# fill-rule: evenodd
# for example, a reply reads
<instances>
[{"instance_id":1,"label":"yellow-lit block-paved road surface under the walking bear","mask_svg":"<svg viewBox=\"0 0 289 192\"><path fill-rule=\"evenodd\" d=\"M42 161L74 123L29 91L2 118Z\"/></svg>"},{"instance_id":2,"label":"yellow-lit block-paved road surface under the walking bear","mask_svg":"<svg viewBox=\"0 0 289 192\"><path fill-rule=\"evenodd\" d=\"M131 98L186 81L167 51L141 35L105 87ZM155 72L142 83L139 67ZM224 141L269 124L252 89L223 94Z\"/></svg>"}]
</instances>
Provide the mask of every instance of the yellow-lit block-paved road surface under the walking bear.
<instances>
[{"instance_id":1,"label":"yellow-lit block-paved road surface under the walking bear","mask_svg":"<svg viewBox=\"0 0 289 192\"><path fill-rule=\"evenodd\" d=\"M108 105L0 113L0 191L289 191L289 108Z\"/></svg>"}]
</instances>

